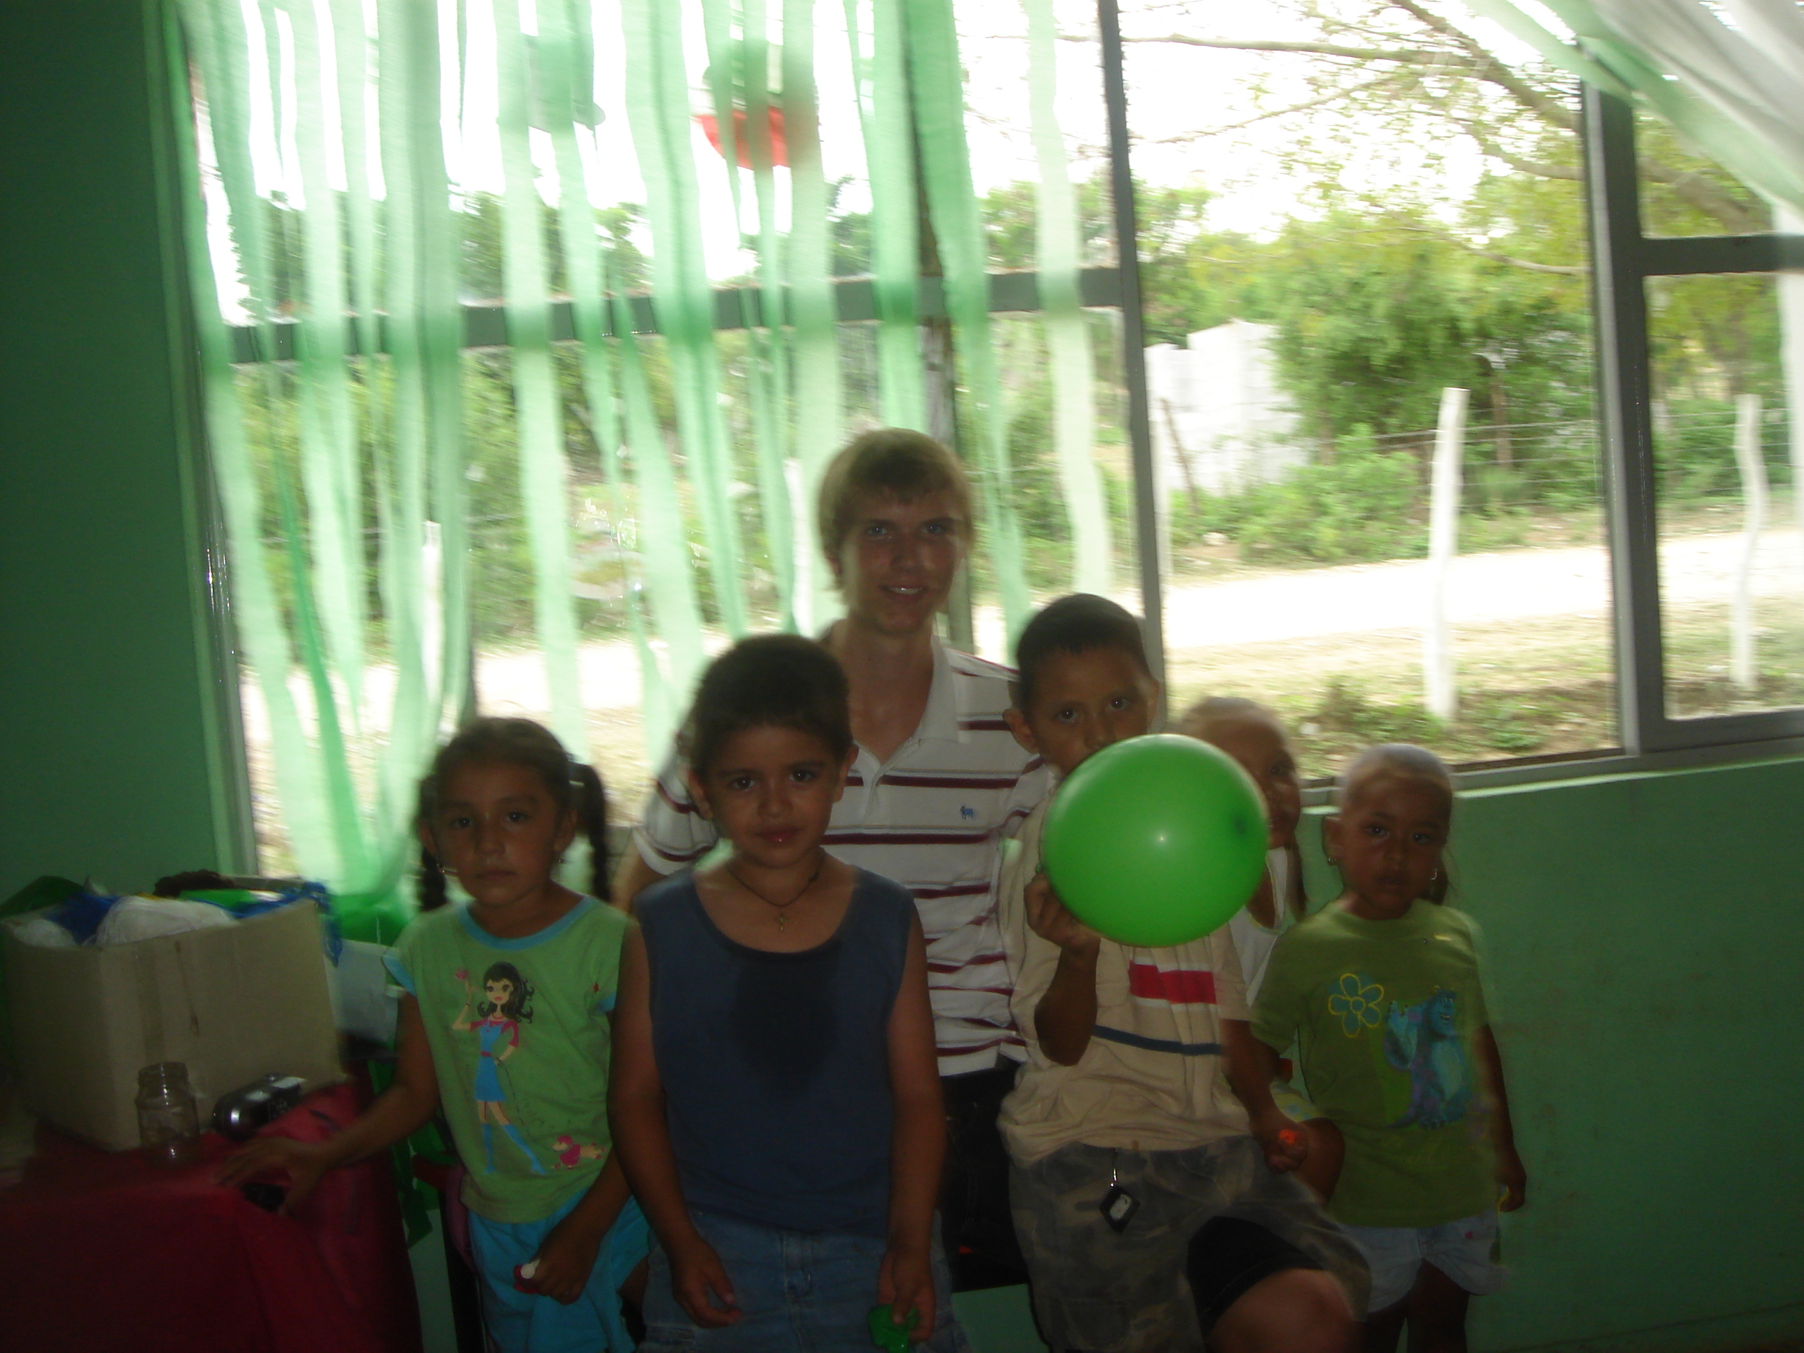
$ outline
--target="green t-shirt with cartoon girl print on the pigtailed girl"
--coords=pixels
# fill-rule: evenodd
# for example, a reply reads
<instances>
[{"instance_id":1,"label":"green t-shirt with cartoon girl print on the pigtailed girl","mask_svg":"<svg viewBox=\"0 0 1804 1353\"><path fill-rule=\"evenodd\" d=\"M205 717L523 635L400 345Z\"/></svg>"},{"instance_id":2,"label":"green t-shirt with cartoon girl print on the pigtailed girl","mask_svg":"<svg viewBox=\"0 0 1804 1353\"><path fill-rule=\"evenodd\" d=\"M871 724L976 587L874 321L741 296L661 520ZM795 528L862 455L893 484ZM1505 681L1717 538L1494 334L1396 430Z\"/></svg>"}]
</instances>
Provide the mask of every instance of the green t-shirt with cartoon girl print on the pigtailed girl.
<instances>
[{"instance_id":1,"label":"green t-shirt with cartoon girl print on the pigtailed girl","mask_svg":"<svg viewBox=\"0 0 1804 1353\"><path fill-rule=\"evenodd\" d=\"M420 915L388 971L420 1003L438 1102L491 1221L539 1221L608 1158L608 1016L631 922L584 897L536 934L500 940L467 906Z\"/></svg>"}]
</instances>

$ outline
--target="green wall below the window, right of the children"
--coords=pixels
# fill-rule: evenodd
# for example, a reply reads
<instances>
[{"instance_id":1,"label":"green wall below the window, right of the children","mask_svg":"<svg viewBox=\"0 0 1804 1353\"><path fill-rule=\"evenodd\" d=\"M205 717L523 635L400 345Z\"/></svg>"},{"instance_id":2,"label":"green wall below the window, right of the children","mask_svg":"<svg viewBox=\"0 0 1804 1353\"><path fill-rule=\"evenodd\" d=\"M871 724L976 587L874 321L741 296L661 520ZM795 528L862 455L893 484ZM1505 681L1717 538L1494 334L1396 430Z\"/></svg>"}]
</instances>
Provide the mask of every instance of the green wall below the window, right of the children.
<instances>
[{"instance_id":1,"label":"green wall below the window, right of the children","mask_svg":"<svg viewBox=\"0 0 1804 1353\"><path fill-rule=\"evenodd\" d=\"M1804 761L1454 819L1530 1171L1477 1346L1804 1335Z\"/></svg>"}]
</instances>

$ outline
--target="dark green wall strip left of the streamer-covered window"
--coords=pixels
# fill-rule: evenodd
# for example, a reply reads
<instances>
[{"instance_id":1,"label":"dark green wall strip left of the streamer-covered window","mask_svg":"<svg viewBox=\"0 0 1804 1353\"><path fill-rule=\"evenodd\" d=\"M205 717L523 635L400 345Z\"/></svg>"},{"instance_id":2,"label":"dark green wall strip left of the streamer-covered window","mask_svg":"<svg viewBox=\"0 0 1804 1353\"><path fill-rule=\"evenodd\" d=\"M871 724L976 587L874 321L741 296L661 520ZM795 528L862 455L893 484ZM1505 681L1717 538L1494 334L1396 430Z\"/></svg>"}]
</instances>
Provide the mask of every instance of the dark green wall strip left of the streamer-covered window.
<instances>
[{"instance_id":1,"label":"dark green wall strip left of the streamer-covered window","mask_svg":"<svg viewBox=\"0 0 1804 1353\"><path fill-rule=\"evenodd\" d=\"M0 5L0 897L238 864L152 13Z\"/></svg>"}]
</instances>

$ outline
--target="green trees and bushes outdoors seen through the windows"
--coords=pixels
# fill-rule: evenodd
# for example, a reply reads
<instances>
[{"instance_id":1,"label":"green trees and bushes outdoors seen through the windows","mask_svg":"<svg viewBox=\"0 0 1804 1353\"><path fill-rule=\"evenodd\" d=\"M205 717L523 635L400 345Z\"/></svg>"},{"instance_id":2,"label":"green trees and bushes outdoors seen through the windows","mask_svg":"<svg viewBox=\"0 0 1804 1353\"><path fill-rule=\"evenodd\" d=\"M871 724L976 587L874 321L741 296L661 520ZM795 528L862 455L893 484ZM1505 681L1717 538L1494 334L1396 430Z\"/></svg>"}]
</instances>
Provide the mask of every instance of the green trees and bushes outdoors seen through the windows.
<instances>
[{"instance_id":1,"label":"green trees and bushes outdoors seen through the windows","mask_svg":"<svg viewBox=\"0 0 1804 1353\"><path fill-rule=\"evenodd\" d=\"M1472 391L1468 415L1461 538L1468 548L1523 543L1533 514L1593 511L1598 502L1597 437L1591 417L1589 298L1584 262L1584 204L1577 182L1577 137L1564 115L1568 81L1535 63L1512 69L1505 87L1474 65L1472 49L1445 23L1414 7L1376 0L1301 5L1297 22L1315 25L1328 43L1376 43L1422 60L1393 61L1373 79L1362 69L1313 61L1306 76L1324 99L1295 124L1293 141L1274 161L1302 189L1290 218L1259 235L1223 229L1210 216L1214 191L1200 182L1137 184L1140 218L1135 240L1146 298L1147 343L1185 343L1187 336L1229 319L1272 325L1281 390L1313 464L1277 483L1238 494L1174 500L1174 536L1194 541L1225 532L1248 559L1274 563L1346 563L1418 556L1425 548L1425 456L1443 386ZM1369 65L1369 63L1367 63ZM1479 72L1479 74L1474 74ZM1254 81L1259 103L1265 92ZM1288 96L1286 96L1288 97ZM1263 105L1261 105L1263 106ZM1375 135L1382 128L1382 135ZM1463 200L1447 200L1445 175L1434 173L1440 141L1468 137L1485 170ZM1422 148L1393 188L1367 164L1349 175L1349 137L1362 153L1384 159ZM1375 144L1376 143L1376 144ZM1207 143L1203 143L1207 144ZM1402 150L1400 150L1402 148ZM1413 152L1409 152L1413 153ZM1766 207L1716 166L1692 155L1671 132L1642 119L1643 213L1651 233L1716 235L1770 227ZM1207 162L1207 161L1205 161ZM1402 164L1402 159L1398 161ZM1427 168L1427 171L1423 171ZM1355 177L1362 182L1355 182ZM835 274L870 269L870 215L846 211L850 180L832 184L830 244ZM1113 262L1115 233L1106 175L1075 184L1084 265ZM285 202L267 202L269 305L294 314L305 305L301 220ZM386 204L377 202L377 229ZM990 265L1035 265L1037 188L1019 180L992 188L981 200ZM545 209L548 285L568 287L557 216ZM612 287L640 290L648 260L642 209L622 204L595 213ZM460 292L492 299L502 285L500 202L471 195L460 215ZM379 283L381 285L381 283ZM1660 437L1663 502L1721 496L1739 489L1734 467L1734 399L1773 395L1777 308L1768 278L1685 278L1651 283L1651 348L1665 431ZM1012 498L1026 541L1035 588L1068 581L1068 514L1052 440L1052 391L1037 325L1032 339L1008 337L1007 438ZM754 483L749 400L743 399L752 354L743 334L720 334L734 474ZM868 336L846 330L848 408L877 406ZM675 410L662 339L642 343L651 397L666 446L680 465L671 433ZM1099 402L1117 395L1115 345L1097 341ZM274 366L247 395L247 420L267 476L296 474L292 373ZM621 520L601 485L601 467L579 373L559 355L565 431L572 467L577 583L588 631L617 626L626 577L613 548L630 539L631 474ZM359 377L363 379L363 377ZM357 399L370 399L361 386ZM473 601L480 635L530 633L532 575L523 536L518 455L507 354L469 354L464 373L465 455L473 530ZM1118 422L1118 419L1117 419ZM1099 433L1111 426L1108 413ZM1790 482L1784 424L1768 422L1764 442L1775 483ZM368 464L373 455L364 456ZM630 471L630 465L628 465ZM1104 471L1111 520L1131 534L1131 487ZM372 485L366 482L364 485ZM682 487L689 492L687 485ZM366 530L375 529L373 492L366 492ZM754 592L770 588L770 563L756 492L740 496L745 529L745 577ZM274 494L265 494L265 539L276 543ZM711 579L700 566L705 541L693 541L696 584L709 604ZM373 568L373 550L370 550ZM289 556L271 550L278 588L289 595ZM379 601L372 577L372 613ZM1501 714L1499 714L1501 718Z\"/></svg>"}]
</instances>

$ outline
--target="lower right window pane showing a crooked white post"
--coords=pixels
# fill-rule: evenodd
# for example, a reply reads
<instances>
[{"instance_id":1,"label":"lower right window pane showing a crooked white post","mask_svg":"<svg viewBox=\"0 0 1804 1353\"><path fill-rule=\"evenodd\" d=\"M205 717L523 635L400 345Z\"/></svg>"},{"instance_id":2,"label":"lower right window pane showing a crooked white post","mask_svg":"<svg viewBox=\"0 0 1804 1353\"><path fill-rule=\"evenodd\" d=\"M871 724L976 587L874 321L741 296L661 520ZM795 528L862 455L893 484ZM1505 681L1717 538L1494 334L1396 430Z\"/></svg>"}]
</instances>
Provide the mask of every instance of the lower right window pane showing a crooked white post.
<instances>
[{"instance_id":1,"label":"lower right window pane showing a crooked white post","mask_svg":"<svg viewBox=\"0 0 1804 1353\"><path fill-rule=\"evenodd\" d=\"M1647 281L1671 718L1804 704L1799 453L1781 359L1800 287Z\"/></svg>"}]
</instances>

